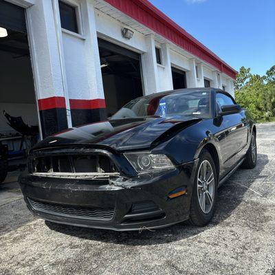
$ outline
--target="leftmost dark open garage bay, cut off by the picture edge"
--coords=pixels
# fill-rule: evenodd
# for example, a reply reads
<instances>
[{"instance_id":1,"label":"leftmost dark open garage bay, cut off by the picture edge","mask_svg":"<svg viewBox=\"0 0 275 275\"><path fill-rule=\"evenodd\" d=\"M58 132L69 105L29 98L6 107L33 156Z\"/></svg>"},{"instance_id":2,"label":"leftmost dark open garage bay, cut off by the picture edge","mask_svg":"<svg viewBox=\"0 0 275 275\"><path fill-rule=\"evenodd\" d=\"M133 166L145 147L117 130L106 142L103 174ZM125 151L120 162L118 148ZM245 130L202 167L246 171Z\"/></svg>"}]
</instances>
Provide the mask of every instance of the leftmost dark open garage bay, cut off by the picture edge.
<instances>
[{"instance_id":1,"label":"leftmost dark open garage bay, cut off by the picture edge","mask_svg":"<svg viewBox=\"0 0 275 275\"><path fill-rule=\"evenodd\" d=\"M39 139L25 10L0 0L0 28L0 145L18 159Z\"/></svg>"}]
</instances>

